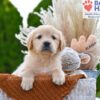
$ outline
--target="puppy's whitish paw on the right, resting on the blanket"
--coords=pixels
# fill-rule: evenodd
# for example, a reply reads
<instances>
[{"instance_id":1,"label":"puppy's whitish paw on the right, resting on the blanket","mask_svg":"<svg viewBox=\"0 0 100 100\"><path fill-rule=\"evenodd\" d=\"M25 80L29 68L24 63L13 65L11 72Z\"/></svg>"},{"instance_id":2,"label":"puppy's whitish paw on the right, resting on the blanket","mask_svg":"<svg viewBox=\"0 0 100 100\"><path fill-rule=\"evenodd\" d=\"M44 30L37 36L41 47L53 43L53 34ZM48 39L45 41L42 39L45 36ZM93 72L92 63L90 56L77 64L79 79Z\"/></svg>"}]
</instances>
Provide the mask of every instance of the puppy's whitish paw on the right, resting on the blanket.
<instances>
[{"instance_id":1,"label":"puppy's whitish paw on the right, resting on the blanket","mask_svg":"<svg viewBox=\"0 0 100 100\"><path fill-rule=\"evenodd\" d=\"M56 85L63 85L65 83L65 74L64 74L64 72L54 74L53 75L53 82Z\"/></svg>"}]
</instances>

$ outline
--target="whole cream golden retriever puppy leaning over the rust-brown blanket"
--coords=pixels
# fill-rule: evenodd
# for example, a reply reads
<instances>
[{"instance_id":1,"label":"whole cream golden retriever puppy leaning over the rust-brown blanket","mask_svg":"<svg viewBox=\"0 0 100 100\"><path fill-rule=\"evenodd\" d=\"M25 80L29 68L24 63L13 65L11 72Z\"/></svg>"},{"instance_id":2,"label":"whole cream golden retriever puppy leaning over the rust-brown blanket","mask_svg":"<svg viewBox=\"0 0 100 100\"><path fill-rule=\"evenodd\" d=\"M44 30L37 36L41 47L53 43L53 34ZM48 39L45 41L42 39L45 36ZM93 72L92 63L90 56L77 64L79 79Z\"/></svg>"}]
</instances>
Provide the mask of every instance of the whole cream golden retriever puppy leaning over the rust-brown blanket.
<instances>
[{"instance_id":1,"label":"whole cream golden retriever puppy leaning over the rust-brown blanket","mask_svg":"<svg viewBox=\"0 0 100 100\"><path fill-rule=\"evenodd\" d=\"M42 25L34 29L28 36L28 54L24 62L13 73L22 77L21 87L30 90L35 76L47 73L57 85L65 82L65 74L61 65L61 50L65 47L62 33L50 25Z\"/></svg>"}]
</instances>

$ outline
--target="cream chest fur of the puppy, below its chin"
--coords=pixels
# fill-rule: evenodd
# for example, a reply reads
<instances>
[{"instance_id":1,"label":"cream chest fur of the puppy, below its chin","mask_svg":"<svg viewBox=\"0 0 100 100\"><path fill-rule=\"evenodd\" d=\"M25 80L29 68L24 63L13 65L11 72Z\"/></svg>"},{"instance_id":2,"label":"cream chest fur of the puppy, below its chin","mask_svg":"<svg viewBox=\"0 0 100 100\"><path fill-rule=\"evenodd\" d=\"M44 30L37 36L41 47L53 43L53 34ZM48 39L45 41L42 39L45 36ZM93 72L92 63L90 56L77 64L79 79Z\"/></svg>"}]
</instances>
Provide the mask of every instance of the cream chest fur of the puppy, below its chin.
<instances>
[{"instance_id":1,"label":"cream chest fur of the puppy, below its chin","mask_svg":"<svg viewBox=\"0 0 100 100\"><path fill-rule=\"evenodd\" d=\"M29 67L33 70L34 73L51 73L58 67L59 58L57 56L35 56L35 55L27 55L25 60L28 61ZM26 62L25 61L25 62Z\"/></svg>"}]
</instances>

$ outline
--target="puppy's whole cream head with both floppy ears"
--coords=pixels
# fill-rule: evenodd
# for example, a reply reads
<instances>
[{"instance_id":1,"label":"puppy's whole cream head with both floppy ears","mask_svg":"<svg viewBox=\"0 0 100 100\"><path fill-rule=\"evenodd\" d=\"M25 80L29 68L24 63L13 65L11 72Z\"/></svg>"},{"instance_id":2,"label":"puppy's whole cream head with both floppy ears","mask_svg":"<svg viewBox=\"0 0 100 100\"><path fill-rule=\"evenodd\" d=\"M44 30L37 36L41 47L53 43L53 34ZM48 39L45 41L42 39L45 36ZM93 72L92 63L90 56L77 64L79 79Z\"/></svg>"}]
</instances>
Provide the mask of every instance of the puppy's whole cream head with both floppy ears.
<instances>
[{"instance_id":1,"label":"puppy's whole cream head with both floppy ears","mask_svg":"<svg viewBox=\"0 0 100 100\"><path fill-rule=\"evenodd\" d=\"M55 54L65 47L65 41L60 31L50 25L42 25L30 34L27 46L37 53Z\"/></svg>"}]
</instances>

